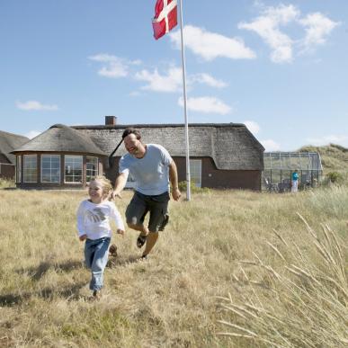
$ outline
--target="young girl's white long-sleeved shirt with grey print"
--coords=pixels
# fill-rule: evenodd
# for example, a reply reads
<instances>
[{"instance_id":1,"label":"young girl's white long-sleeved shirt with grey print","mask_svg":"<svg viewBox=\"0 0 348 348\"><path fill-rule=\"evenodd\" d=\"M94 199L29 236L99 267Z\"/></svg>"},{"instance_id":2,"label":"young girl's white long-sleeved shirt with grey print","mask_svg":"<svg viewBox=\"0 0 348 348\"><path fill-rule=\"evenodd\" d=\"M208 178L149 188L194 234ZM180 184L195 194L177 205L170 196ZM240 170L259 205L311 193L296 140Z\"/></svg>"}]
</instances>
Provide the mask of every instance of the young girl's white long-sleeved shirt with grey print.
<instances>
[{"instance_id":1,"label":"young girl's white long-sleeved shirt with grey print","mask_svg":"<svg viewBox=\"0 0 348 348\"><path fill-rule=\"evenodd\" d=\"M77 210L78 236L87 235L88 239L99 239L112 236L110 221L113 220L118 229L124 231L120 212L111 201L94 204L92 201L82 201Z\"/></svg>"}]
</instances>

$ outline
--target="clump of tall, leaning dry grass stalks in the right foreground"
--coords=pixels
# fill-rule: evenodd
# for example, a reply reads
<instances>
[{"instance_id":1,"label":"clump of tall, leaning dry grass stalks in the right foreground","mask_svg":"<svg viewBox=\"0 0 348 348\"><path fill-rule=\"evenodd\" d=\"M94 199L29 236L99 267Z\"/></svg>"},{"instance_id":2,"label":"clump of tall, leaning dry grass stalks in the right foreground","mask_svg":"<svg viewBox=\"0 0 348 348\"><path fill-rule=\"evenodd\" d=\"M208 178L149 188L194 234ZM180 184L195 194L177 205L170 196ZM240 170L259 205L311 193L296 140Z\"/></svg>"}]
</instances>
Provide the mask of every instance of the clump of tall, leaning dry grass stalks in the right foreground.
<instances>
[{"instance_id":1,"label":"clump of tall, leaning dry grass stalks in the right foreground","mask_svg":"<svg viewBox=\"0 0 348 348\"><path fill-rule=\"evenodd\" d=\"M249 288L243 299L221 297L230 331L219 333L272 347L346 347L348 345L348 286L343 241L327 225L319 236L307 227L310 245L298 245L276 230L278 246L267 241L283 266L275 270L254 254L241 261L236 282ZM308 253L308 248L313 249ZM285 254L286 253L286 254ZM248 277L245 265L257 268ZM261 290L260 290L261 289ZM270 299L272 299L270 301Z\"/></svg>"}]
</instances>

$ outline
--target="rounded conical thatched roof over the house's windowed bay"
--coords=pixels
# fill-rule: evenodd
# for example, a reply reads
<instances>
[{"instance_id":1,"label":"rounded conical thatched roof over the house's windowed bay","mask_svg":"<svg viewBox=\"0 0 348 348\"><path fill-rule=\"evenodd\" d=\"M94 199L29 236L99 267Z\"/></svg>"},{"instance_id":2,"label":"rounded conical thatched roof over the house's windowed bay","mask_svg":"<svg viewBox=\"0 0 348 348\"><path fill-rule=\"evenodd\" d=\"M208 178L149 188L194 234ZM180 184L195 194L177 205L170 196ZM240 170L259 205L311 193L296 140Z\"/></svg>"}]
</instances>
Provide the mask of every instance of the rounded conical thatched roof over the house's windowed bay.
<instances>
[{"instance_id":1,"label":"rounded conical thatched roof over the house's windowed bay","mask_svg":"<svg viewBox=\"0 0 348 348\"><path fill-rule=\"evenodd\" d=\"M108 155L97 147L86 133L62 124L55 124L22 147L15 148L12 153L27 151Z\"/></svg>"}]
</instances>

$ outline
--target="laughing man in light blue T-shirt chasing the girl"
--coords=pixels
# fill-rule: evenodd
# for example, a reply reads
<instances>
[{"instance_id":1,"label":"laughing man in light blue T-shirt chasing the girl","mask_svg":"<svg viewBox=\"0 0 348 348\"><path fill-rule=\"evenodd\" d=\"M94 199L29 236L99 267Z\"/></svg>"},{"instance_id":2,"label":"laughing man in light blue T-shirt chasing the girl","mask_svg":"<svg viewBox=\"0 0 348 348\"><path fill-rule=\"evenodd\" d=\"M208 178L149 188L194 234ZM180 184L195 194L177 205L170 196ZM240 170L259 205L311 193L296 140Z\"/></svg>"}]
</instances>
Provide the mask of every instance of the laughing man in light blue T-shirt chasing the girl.
<instances>
[{"instance_id":1,"label":"laughing man in light blue T-shirt chasing the girl","mask_svg":"<svg viewBox=\"0 0 348 348\"><path fill-rule=\"evenodd\" d=\"M138 129L126 129L122 138L129 153L120 158L120 174L116 178L112 196L120 197L131 174L136 188L126 210L127 225L140 232L137 245L141 248L146 244L141 258L147 258L156 245L158 230L163 230L168 219L169 181L172 183L174 201L181 197L176 165L165 147L143 144ZM144 219L148 211L150 218L146 227Z\"/></svg>"}]
</instances>

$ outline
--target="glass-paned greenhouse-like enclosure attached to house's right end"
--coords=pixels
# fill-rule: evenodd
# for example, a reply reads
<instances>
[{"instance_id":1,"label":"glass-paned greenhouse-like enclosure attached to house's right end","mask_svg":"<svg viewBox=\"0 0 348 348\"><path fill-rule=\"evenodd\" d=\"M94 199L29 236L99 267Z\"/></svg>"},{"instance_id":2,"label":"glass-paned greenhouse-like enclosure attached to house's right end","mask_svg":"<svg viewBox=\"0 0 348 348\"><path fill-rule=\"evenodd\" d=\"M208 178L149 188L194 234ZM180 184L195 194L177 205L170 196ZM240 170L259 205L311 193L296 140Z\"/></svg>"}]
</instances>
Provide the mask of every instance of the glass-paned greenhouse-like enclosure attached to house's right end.
<instances>
[{"instance_id":1,"label":"glass-paned greenhouse-like enclosure attached to house's right end","mask_svg":"<svg viewBox=\"0 0 348 348\"><path fill-rule=\"evenodd\" d=\"M263 190L289 192L291 174L298 171L299 190L316 187L323 175L317 152L264 152Z\"/></svg>"}]
</instances>

